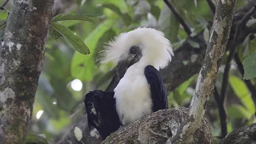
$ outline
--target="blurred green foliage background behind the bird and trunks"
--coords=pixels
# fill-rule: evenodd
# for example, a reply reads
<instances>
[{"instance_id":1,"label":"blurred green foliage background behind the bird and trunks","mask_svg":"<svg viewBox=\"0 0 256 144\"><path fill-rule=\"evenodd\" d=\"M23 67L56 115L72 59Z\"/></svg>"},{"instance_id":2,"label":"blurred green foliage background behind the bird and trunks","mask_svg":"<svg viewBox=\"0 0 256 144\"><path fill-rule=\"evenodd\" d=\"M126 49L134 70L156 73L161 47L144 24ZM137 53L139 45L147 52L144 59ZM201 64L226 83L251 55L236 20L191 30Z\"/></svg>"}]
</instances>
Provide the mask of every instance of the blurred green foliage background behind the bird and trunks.
<instances>
[{"instance_id":1,"label":"blurred green foliage background behind the bird and trunks","mask_svg":"<svg viewBox=\"0 0 256 144\"><path fill-rule=\"evenodd\" d=\"M3 1L0 0L0 2ZM173 0L173 2L192 28L193 34L196 35L203 30L204 38L208 40L210 34L207 25L212 21L214 15L206 1ZM243 6L245 3L246 1L239 0L237 7ZM61 22L84 40L90 49L88 55L75 51L65 38L55 41L50 36L48 37L30 132L45 134L49 142L53 142L54 138L61 134L61 131L70 124L76 114L84 112L83 99L89 90L104 90L110 82L110 77L102 77L113 65L103 66L97 61L98 52L102 50L104 42L110 41L122 32L134 30L138 26L150 26L162 30L166 34L166 38L172 42L174 50L177 50L187 38L185 31L179 28L177 20L162 0L70 0L70 4L63 9L67 10L69 14L92 15L98 18L99 22ZM5 20L6 16L6 12L0 13L2 20ZM191 41L190 45L198 48L196 42ZM238 49L240 57L242 59L248 57L253 54L255 48L256 41L250 40L249 37L246 38L246 41ZM218 88L221 86L223 70L222 66L217 82ZM196 79L197 75L178 86L169 95L171 107L189 106ZM228 131L230 132L239 126L255 122L255 108L250 91L233 62L229 82L226 109ZM211 98L208 109L206 118L213 127L213 136L218 136L220 135L220 123L214 98Z\"/></svg>"}]
</instances>

